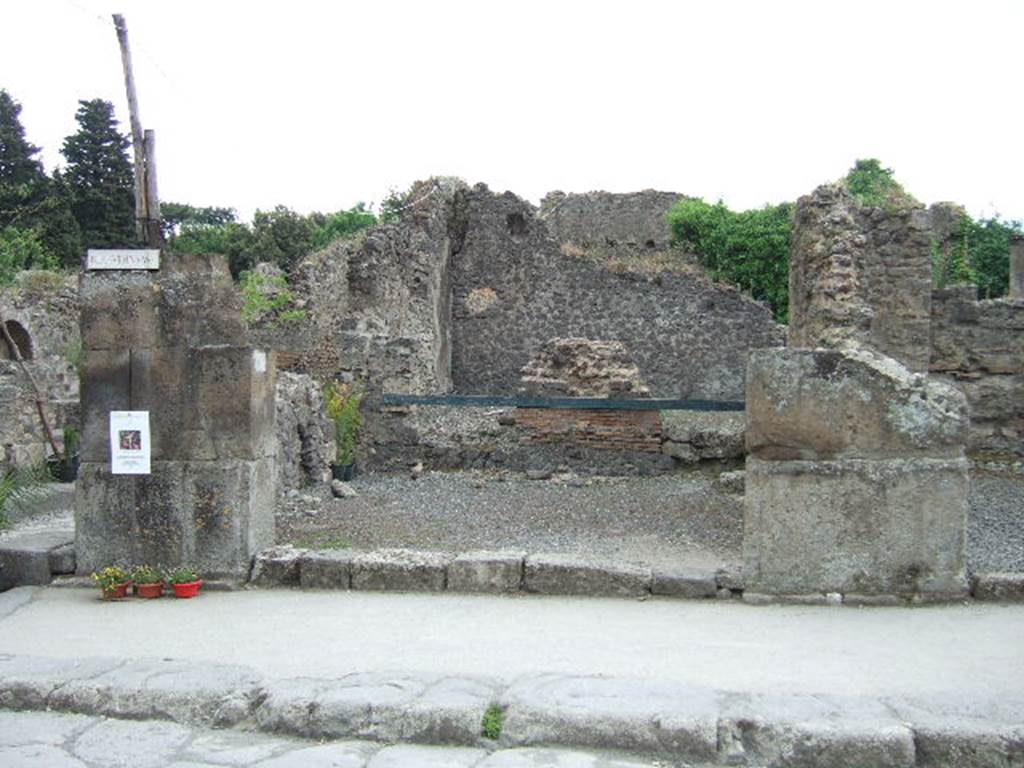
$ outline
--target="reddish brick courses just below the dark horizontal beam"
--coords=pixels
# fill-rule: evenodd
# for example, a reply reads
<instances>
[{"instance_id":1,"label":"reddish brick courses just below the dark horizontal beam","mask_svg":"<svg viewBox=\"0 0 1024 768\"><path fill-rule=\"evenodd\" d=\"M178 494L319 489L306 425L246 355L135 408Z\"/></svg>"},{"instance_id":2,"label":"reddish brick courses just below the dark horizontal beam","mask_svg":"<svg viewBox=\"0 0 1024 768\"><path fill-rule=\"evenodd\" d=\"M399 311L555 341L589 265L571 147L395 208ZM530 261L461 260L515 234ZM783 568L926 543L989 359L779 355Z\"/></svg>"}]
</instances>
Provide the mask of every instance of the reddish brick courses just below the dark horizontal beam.
<instances>
[{"instance_id":1,"label":"reddish brick courses just below the dark horizontal beam","mask_svg":"<svg viewBox=\"0 0 1024 768\"><path fill-rule=\"evenodd\" d=\"M662 452L662 416L657 411L520 408L516 409L515 423L530 430L526 442Z\"/></svg>"}]
</instances>

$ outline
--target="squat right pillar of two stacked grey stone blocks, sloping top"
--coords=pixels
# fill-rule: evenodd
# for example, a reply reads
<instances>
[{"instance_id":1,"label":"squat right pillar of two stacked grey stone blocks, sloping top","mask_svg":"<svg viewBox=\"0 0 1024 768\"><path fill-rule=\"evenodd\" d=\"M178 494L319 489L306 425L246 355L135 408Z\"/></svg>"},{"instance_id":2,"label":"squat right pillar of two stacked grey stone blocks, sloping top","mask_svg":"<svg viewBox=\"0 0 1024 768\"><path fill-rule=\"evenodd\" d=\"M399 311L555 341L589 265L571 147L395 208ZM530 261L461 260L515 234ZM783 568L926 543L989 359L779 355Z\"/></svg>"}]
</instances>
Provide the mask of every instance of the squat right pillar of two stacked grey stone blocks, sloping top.
<instances>
[{"instance_id":1,"label":"squat right pillar of two stacked grey stone blocks, sloping top","mask_svg":"<svg viewBox=\"0 0 1024 768\"><path fill-rule=\"evenodd\" d=\"M746 380L750 592L967 594L958 390L852 348L756 350Z\"/></svg>"}]
</instances>

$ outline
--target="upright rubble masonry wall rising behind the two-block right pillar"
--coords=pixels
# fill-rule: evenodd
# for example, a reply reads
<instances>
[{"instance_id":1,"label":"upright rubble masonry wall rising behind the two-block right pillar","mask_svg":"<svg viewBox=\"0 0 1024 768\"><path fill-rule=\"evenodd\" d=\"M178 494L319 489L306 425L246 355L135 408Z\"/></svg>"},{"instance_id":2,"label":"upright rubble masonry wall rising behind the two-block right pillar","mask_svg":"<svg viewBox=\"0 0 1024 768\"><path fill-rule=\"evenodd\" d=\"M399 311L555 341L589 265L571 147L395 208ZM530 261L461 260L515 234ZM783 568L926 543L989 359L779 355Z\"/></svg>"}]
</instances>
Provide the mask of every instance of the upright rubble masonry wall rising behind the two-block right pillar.
<instances>
[{"instance_id":1,"label":"upright rubble masonry wall rising behind the two-block right pillar","mask_svg":"<svg viewBox=\"0 0 1024 768\"><path fill-rule=\"evenodd\" d=\"M861 206L842 183L797 201L790 259L792 347L854 342L929 368L931 218L921 205Z\"/></svg>"}]
</instances>

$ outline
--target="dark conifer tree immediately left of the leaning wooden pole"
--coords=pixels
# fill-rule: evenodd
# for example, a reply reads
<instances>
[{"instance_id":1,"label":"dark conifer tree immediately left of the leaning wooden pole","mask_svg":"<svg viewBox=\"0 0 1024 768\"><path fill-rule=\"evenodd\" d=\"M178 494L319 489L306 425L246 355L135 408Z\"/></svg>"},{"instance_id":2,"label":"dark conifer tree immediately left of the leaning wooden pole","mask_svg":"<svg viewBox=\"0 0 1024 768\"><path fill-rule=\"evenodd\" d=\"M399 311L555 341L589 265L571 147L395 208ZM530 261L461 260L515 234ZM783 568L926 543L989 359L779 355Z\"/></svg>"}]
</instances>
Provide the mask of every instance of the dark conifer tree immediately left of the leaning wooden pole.
<instances>
[{"instance_id":1,"label":"dark conifer tree immediately left of the leaning wooden pole","mask_svg":"<svg viewBox=\"0 0 1024 768\"><path fill-rule=\"evenodd\" d=\"M65 139L62 174L87 248L134 245L135 201L129 138L118 131L114 104L79 101L78 131Z\"/></svg>"}]
</instances>

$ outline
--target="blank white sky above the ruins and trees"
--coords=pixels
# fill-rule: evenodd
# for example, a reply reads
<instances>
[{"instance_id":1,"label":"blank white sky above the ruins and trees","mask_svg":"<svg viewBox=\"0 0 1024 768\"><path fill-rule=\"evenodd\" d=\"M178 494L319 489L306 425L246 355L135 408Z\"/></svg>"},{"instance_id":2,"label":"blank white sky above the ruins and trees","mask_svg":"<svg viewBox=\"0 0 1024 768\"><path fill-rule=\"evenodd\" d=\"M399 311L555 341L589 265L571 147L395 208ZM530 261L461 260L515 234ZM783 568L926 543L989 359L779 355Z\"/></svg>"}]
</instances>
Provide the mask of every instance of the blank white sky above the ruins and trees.
<instances>
[{"instance_id":1,"label":"blank white sky above the ruins and trees","mask_svg":"<svg viewBox=\"0 0 1024 768\"><path fill-rule=\"evenodd\" d=\"M7 0L0 88L48 169L80 98L128 130L112 12L163 200L327 211L455 175L750 208L877 157L1024 219L1019 0Z\"/></svg>"}]
</instances>

